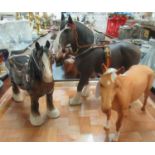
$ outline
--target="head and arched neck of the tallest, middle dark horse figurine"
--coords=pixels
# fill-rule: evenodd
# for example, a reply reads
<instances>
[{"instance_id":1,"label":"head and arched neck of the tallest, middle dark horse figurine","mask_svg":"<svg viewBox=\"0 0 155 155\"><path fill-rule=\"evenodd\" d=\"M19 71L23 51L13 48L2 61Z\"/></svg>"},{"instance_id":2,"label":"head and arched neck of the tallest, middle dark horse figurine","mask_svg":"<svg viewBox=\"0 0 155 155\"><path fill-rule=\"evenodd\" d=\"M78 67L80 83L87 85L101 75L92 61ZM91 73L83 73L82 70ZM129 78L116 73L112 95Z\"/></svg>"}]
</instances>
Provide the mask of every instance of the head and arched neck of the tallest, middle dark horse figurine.
<instances>
[{"instance_id":1,"label":"head and arched neck of the tallest, middle dark horse figurine","mask_svg":"<svg viewBox=\"0 0 155 155\"><path fill-rule=\"evenodd\" d=\"M94 41L93 32L80 22L74 22L69 16L68 20L61 20L60 31L54 41L56 61L60 61L66 54L72 54L79 49L86 49L83 45L91 46ZM87 47L87 48L88 48Z\"/></svg>"}]
</instances>

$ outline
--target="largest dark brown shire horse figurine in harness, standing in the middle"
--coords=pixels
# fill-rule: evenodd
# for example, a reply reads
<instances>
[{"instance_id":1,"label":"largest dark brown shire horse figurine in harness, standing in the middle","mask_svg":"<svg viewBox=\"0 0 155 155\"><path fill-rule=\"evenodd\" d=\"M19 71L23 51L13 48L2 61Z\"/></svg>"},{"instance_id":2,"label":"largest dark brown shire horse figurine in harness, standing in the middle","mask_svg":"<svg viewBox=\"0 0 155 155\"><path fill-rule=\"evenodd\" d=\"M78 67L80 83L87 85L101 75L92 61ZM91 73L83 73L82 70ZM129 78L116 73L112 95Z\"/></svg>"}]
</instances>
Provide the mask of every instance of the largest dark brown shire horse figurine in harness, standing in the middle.
<instances>
[{"instance_id":1,"label":"largest dark brown shire horse figurine in harness, standing in the middle","mask_svg":"<svg viewBox=\"0 0 155 155\"><path fill-rule=\"evenodd\" d=\"M94 45L93 32L82 23L73 22L70 16L55 42L57 42L57 46L53 47L54 52L56 52L56 61L62 58L69 44L73 53L77 55L75 63L80 73L80 81L76 96L70 99L70 105L81 104L81 95L88 96L89 77L94 72L103 72L102 64L107 65L107 58L110 57L108 59L109 67L120 68L124 66L126 70L140 61L140 50L133 44L120 42L110 44L108 48L102 45L96 46L96 43Z\"/></svg>"}]
</instances>

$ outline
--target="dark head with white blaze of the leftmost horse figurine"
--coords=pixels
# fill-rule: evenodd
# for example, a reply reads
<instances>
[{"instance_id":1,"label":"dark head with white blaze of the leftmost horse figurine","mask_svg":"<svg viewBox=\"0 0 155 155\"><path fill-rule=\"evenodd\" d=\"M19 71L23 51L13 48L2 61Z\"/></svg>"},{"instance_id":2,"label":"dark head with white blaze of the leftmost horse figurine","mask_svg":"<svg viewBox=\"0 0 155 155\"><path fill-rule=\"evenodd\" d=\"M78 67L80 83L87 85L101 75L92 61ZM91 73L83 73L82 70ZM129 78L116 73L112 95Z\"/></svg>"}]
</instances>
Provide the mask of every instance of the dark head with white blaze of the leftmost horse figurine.
<instances>
[{"instance_id":1,"label":"dark head with white blaze of the leftmost horse figurine","mask_svg":"<svg viewBox=\"0 0 155 155\"><path fill-rule=\"evenodd\" d=\"M35 49L32 53L32 65L33 68L34 66L36 68L34 72L38 72L40 78L42 78L42 80L46 83L53 81L51 63L52 54L50 53L49 47L49 41L46 42L45 46L40 46L40 44L36 42Z\"/></svg>"}]
</instances>

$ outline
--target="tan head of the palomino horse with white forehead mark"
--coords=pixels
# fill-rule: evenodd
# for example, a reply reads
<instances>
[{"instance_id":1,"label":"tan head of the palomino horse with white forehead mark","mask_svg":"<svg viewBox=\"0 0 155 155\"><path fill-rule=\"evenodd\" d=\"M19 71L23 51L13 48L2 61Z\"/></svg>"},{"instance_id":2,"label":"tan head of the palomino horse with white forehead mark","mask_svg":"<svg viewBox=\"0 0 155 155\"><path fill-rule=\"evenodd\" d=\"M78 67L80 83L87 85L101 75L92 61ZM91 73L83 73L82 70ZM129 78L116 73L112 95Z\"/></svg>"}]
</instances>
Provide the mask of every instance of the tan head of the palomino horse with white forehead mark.
<instances>
[{"instance_id":1,"label":"tan head of the palomino horse with white forehead mark","mask_svg":"<svg viewBox=\"0 0 155 155\"><path fill-rule=\"evenodd\" d=\"M109 68L99 80L100 95L102 102L102 111L106 112L112 107L112 101L118 89L117 76L124 70L124 67L116 70Z\"/></svg>"}]
</instances>

